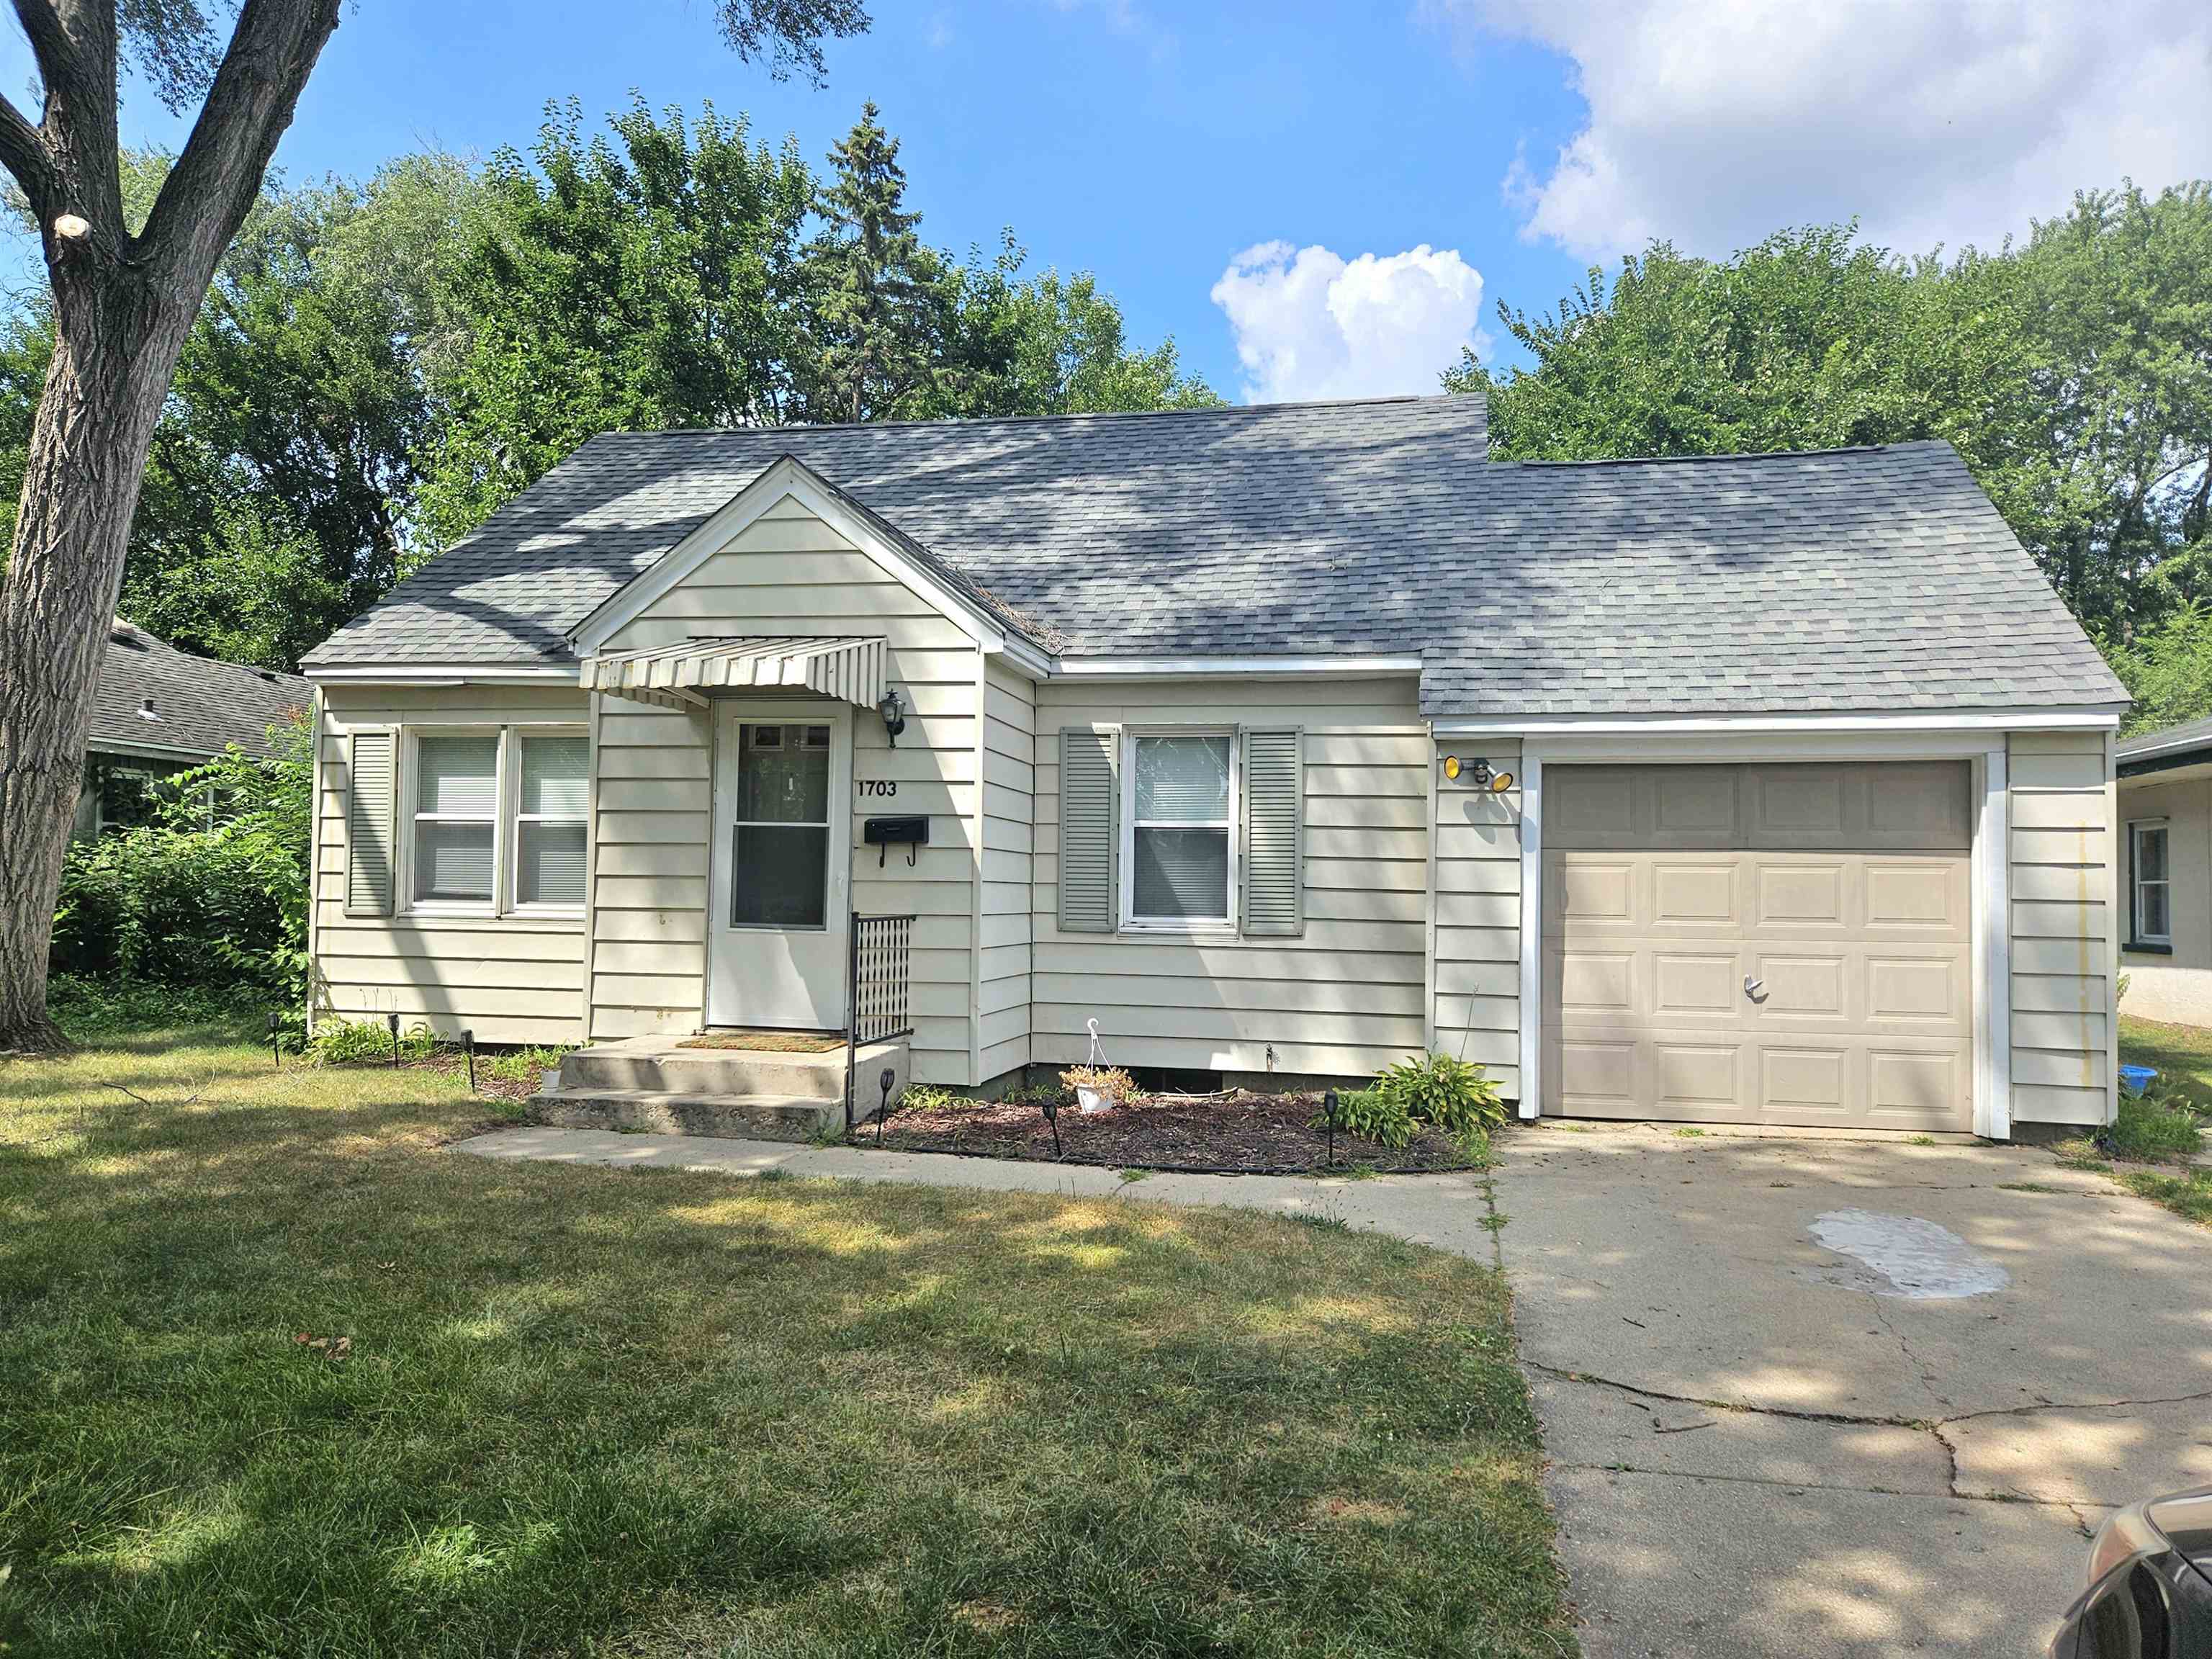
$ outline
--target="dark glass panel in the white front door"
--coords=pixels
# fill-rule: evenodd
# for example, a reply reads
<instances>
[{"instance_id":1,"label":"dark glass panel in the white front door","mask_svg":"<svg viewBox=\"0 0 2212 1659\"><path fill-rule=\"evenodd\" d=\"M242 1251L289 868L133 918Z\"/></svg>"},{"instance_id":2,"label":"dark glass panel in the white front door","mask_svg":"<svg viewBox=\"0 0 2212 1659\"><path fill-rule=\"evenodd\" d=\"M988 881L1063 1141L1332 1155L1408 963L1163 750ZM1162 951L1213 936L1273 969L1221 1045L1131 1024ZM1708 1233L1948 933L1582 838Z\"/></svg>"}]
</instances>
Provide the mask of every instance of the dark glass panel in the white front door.
<instances>
[{"instance_id":1,"label":"dark glass panel in the white front door","mask_svg":"<svg viewBox=\"0 0 2212 1659\"><path fill-rule=\"evenodd\" d=\"M730 927L827 927L830 728L741 726Z\"/></svg>"}]
</instances>

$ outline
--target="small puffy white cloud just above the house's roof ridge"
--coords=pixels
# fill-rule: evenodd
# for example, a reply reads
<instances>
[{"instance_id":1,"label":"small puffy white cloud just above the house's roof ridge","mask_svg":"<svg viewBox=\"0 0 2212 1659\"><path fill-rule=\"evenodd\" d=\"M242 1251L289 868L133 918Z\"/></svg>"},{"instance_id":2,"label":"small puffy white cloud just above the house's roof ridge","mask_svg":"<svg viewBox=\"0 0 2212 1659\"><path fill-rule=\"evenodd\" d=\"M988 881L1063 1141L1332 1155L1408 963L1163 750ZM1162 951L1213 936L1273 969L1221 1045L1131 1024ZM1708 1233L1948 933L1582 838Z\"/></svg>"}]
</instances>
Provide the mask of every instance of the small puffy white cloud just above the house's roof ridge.
<instances>
[{"instance_id":1,"label":"small puffy white cloud just above the house's roof ridge","mask_svg":"<svg viewBox=\"0 0 2212 1659\"><path fill-rule=\"evenodd\" d=\"M1237 334L1245 396L1374 398L1438 392L1460 347L1482 349L1482 272L1451 248L1360 254L1263 241L1214 283Z\"/></svg>"}]
</instances>

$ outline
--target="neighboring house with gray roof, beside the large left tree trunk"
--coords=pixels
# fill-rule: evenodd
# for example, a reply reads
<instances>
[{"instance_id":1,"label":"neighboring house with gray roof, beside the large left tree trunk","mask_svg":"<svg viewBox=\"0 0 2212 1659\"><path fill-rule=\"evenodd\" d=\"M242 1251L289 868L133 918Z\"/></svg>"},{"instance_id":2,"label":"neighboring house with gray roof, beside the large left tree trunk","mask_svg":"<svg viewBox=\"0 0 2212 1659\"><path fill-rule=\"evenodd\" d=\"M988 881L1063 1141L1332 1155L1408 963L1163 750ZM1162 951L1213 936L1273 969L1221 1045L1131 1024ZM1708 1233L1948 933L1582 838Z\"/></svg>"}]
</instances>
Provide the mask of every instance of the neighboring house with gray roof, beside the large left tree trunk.
<instances>
[{"instance_id":1,"label":"neighboring house with gray roof, beside the large left tree trunk","mask_svg":"<svg viewBox=\"0 0 2212 1659\"><path fill-rule=\"evenodd\" d=\"M299 675L195 657L117 617L100 661L73 836L146 823L161 783L232 743L268 754L268 728L312 701Z\"/></svg>"}]
</instances>

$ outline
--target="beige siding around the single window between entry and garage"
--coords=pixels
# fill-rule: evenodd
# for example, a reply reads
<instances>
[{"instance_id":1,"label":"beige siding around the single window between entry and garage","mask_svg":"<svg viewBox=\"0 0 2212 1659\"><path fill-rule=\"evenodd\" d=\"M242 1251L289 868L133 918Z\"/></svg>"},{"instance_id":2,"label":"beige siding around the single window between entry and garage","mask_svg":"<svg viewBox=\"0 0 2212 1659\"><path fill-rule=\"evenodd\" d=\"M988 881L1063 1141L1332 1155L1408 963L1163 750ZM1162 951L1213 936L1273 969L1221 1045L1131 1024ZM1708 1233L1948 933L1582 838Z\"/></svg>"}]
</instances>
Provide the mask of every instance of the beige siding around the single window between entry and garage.
<instances>
[{"instance_id":1,"label":"beige siding around the single window between entry and garage","mask_svg":"<svg viewBox=\"0 0 2212 1659\"><path fill-rule=\"evenodd\" d=\"M1060 730L1298 726L1305 933L1175 940L1060 933ZM1086 1020L1128 1066L1365 1077L1427 1040L1429 737L1411 679L1037 686L1033 1037L1084 1057Z\"/></svg>"}]
</instances>

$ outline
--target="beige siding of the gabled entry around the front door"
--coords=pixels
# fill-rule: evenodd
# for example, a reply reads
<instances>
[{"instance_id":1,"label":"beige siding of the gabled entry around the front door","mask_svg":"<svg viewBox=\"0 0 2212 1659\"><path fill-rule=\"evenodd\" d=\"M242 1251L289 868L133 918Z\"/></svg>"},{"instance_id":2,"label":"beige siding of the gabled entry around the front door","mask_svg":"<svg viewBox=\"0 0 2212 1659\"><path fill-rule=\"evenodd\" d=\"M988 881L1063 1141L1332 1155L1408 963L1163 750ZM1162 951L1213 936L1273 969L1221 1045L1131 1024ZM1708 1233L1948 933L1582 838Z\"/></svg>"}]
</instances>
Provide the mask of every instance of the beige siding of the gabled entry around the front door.
<instances>
[{"instance_id":1,"label":"beige siding of the gabled entry around the front door","mask_svg":"<svg viewBox=\"0 0 2212 1659\"><path fill-rule=\"evenodd\" d=\"M927 599L785 500L628 624L611 650L692 635L876 635L909 706L891 748L854 714L852 905L914 914L914 1075L967 1084L975 1066L975 863L993 757L980 741L982 657ZM810 699L794 699L803 708ZM692 1031L706 1015L714 726L708 712L599 706L593 834L593 1035ZM896 796L865 796L889 781ZM860 843L863 821L927 816L909 867Z\"/></svg>"}]
</instances>

